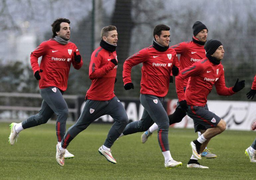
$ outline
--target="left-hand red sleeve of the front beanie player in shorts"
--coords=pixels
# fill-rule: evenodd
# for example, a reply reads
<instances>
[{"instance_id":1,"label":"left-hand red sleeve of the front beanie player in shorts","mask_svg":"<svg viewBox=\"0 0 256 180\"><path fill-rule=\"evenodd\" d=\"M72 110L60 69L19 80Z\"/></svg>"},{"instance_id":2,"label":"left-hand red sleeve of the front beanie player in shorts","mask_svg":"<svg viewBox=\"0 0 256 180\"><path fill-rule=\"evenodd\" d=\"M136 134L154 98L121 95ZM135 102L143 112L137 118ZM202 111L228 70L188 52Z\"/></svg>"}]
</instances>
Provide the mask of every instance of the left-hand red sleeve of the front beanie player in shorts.
<instances>
[{"instance_id":1,"label":"left-hand red sleeve of the front beanie player in shorts","mask_svg":"<svg viewBox=\"0 0 256 180\"><path fill-rule=\"evenodd\" d=\"M185 93L184 93L184 80L191 76L197 76L201 72L203 72L203 65L201 62L195 62L191 66L183 69L179 76L176 76L175 83L176 83L176 92L179 98L179 101L186 100Z\"/></svg>"}]
</instances>

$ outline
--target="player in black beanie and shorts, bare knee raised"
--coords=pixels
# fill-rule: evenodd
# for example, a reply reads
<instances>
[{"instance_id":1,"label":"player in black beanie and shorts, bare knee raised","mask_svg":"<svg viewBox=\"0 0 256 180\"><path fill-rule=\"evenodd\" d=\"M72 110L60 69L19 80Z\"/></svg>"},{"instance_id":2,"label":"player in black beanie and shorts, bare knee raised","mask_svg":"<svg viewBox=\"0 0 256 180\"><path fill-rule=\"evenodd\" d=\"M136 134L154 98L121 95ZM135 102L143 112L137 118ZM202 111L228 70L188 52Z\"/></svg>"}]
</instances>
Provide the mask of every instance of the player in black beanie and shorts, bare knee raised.
<instances>
[{"instance_id":1,"label":"player in black beanie and shorts, bare knee raised","mask_svg":"<svg viewBox=\"0 0 256 180\"><path fill-rule=\"evenodd\" d=\"M207 96L213 85L219 95L229 96L244 88L245 81L237 79L233 87L225 85L224 68L221 59L224 56L223 45L218 40L209 40L205 43L206 58L195 62L183 69L176 77L176 91L181 108L193 119L195 132L202 132L197 139L191 141L192 153L201 159L201 153L209 140L226 129L223 119L208 110ZM189 78L186 92L184 93L184 80ZM196 159L190 159L187 167L208 168L201 166Z\"/></svg>"}]
</instances>

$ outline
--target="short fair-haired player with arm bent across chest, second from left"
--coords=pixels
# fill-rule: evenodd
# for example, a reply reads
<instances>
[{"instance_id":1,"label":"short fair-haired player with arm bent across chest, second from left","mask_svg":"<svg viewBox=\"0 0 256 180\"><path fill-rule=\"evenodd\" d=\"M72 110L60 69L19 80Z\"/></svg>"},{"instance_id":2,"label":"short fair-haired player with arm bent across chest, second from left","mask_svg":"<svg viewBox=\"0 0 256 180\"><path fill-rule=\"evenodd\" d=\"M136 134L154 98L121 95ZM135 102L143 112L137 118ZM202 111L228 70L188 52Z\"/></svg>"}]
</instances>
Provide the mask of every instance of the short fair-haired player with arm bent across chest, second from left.
<instances>
[{"instance_id":1,"label":"short fair-haired player with arm bent across chest, second from left","mask_svg":"<svg viewBox=\"0 0 256 180\"><path fill-rule=\"evenodd\" d=\"M91 54L89 78L92 83L86 93L86 104L77 122L67 130L62 143L57 144L56 147L56 160L61 166L64 166L64 152L71 140L85 130L94 120L106 114L110 115L115 123L98 151L109 162L116 163L110 148L128 123L124 106L114 94L118 62L116 55L118 40L116 27L106 26L102 28L101 38L100 46Z\"/></svg>"}]
</instances>

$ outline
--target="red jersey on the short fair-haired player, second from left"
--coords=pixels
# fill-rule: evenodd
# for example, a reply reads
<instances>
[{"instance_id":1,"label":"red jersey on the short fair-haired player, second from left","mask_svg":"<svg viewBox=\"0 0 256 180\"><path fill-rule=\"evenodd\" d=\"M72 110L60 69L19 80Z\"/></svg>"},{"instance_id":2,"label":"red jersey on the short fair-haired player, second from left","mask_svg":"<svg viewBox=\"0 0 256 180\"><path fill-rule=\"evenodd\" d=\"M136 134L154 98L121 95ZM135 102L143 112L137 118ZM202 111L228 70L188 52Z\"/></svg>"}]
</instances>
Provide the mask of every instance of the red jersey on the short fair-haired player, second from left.
<instances>
[{"instance_id":1,"label":"red jersey on the short fair-haired player, second from left","mask_svg":"<svg viewBox=\"0 0 256 180\"><path fill-rule=\"evenodd\" d=\"M99 46L91 54L89 78L91 86L86 93L86 98L97 101L108 101L115 97L114 84L117 65L110 60L116 59L116 51L110 52Z\"/></svg>"}]
</instances>

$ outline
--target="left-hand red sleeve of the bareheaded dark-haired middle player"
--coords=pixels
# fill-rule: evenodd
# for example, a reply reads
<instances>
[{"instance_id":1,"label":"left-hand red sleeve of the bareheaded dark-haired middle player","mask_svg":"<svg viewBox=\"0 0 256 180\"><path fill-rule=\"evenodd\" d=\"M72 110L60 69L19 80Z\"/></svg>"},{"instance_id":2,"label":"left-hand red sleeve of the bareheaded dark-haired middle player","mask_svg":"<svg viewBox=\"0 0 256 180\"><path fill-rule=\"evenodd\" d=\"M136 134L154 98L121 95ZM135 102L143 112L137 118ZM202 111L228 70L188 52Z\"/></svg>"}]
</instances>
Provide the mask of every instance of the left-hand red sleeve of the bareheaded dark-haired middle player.
<instances>
[{"instance_id":1,"label":"left-hand red sleeve of the bareheaded dark-haired middle player","mask_svg":"<svg viewBox=\"0 0 256 180\"><path fill-rule=\"evenodd\" d=\"M132 82L132 79L131 79L132 67L141 63L141 62L146 61L148 59L148 57L149 57L149 54L147 53L147 50L145 48L145 49L142 49L139 52L133 54L132 56L128 57L125 60L124 65L123 65L123 81L124 81L124 84Z\"/></svg>"}]
</instances>

